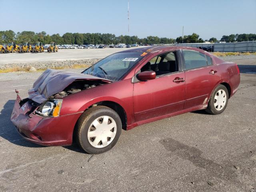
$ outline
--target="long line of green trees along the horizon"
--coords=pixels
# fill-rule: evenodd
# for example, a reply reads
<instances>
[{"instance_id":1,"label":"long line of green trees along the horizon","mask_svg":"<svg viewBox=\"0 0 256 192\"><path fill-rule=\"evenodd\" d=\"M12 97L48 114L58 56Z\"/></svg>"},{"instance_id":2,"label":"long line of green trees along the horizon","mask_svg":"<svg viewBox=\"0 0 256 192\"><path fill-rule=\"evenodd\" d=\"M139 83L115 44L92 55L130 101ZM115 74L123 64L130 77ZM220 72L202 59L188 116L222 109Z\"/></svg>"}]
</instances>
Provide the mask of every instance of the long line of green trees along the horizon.
<instances>
[{"instance_id":1,"label":"long line of green trees along the horizon","mask_svg":"<svg viewBox=\"0 0 256 192\"><path fill-rule=\"evenodd\" d=\"M231 34L229 36L222 36L220 41L226 42L240 42L256 40L256 34ZM172 43L202 43L205 41L217 42L217 38L210 38L209 40L203 40L199 38L199 35L193 33L192 35L177 37L176 39L147 36L146 38L138 38L138 36L120 35L114 34L101 34L101 33L65 33L62 36L60 34L49 35L42 31L35 33L33 31L22 31L15 33L12 30L0 31L0 44L6 44L8 42L16 42L21 44L22 42L42 42L48 44L50 42L56 42L57 44L172 44Z\"/></svg>"}]
</instances>

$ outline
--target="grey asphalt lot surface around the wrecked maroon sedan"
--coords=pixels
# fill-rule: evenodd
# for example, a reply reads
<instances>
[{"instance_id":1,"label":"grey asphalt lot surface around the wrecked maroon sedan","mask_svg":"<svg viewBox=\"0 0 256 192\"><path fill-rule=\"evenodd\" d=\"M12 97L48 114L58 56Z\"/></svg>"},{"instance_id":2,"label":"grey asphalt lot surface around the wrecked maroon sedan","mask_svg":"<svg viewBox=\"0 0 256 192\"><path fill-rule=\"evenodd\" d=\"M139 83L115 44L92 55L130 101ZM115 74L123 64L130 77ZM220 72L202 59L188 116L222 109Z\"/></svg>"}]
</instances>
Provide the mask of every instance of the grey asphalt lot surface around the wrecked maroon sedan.
<instances>
[{"instance_id":1,"label":"grey asphalt lot surface around the wrecked maroon sedan","mask_svg":"<svg viewBox=\"0 0 256 192\"><path fill-rule=\"evenodd\" d=\"M122 130L112 150L93 156L21 138L10 122L14 89L25 98L41 73L1 74L0 191L256 191L256 60L236 62L241 83L222 114Z\"/></svg>"}]
</instances>

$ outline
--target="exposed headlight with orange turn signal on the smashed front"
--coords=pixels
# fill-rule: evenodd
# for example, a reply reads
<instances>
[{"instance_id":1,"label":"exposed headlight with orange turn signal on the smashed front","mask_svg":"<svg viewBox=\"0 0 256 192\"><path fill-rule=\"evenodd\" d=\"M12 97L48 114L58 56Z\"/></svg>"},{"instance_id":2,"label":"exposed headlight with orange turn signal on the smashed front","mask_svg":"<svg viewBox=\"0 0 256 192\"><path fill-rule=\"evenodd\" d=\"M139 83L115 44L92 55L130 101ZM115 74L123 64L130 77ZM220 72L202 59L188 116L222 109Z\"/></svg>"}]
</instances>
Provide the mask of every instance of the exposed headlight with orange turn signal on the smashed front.
<instances>
[{"instance_id":1,"label":"exposed headlight with orange turn signal on the smashed front","mask_svg":"<svg viewBox=\"0 0 256 192\"><path fill-rule=\"evenodd\" d=\"M43 116L58 117L60 115L61 105L62 99L49 100L42 104L36 112Z\"/></svg>"}]
</instances>

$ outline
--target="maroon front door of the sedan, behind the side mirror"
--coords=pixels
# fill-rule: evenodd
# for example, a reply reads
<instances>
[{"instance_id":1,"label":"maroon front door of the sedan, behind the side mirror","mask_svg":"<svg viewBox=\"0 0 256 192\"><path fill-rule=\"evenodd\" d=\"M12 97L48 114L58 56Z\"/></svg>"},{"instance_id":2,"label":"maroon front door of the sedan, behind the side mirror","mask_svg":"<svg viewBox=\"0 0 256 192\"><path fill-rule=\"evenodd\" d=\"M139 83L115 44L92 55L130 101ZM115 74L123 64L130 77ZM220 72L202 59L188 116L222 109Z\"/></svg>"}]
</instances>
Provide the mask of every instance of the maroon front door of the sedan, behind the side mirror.
<instances>
[{"instance_id":1,"label":"maroon front door of the sedan, behind the side mirror","mask_svg":"<svg viewBox=\"0 0 256 192\"><path fill-rule=\"evenodd\" d=\"M154 70L156 74L159 74L155 79L134 83L133 101L136 122L183 110L186 88L185 74L182 70L179 70L177 53L172 53L175 55L174 61L165 60L165 54L168 53L158 55L150 60L152 68L150 70ZM159 57L161 57L160 61ZM161 64L166 65L167 62L170 65L176 64L176 67L170 67L169 71L160 71L160 69L164 69ZM168 67L165 68L168 69ZM171 68L173 70L170 70Z\"/></svg>"}]
</instances>

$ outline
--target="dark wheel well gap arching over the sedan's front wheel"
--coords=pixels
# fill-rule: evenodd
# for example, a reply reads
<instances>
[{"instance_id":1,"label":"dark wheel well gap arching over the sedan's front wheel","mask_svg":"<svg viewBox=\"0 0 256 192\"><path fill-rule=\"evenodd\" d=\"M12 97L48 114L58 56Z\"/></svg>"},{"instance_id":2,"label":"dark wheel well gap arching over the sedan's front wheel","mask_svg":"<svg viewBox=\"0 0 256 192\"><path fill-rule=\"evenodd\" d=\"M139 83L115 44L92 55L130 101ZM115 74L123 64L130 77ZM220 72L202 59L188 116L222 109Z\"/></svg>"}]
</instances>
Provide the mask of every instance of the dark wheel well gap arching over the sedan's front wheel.
<instances>
[{"instance_id":1,"label":"dark wheel well gap arching over the sedan's front wheel","mask_svg":"<svg viewBox=\"0 0 256 192\"><path fill-rule=\"evenodd\" d=\"M127 116L126 116L126 113L124 111L124 108L122 108L122 106L120 106L118 103L112 102L112 101L102 101L102 102L96 103L96 105L97 106L106 106L106 107L109 107L112 110L114 110L120 116L120 119L122 121L122 128L124 130L126 130ZM92 107L93 106L95 106L95 104L92 105Z\"/></svg>"}]
</instances>

